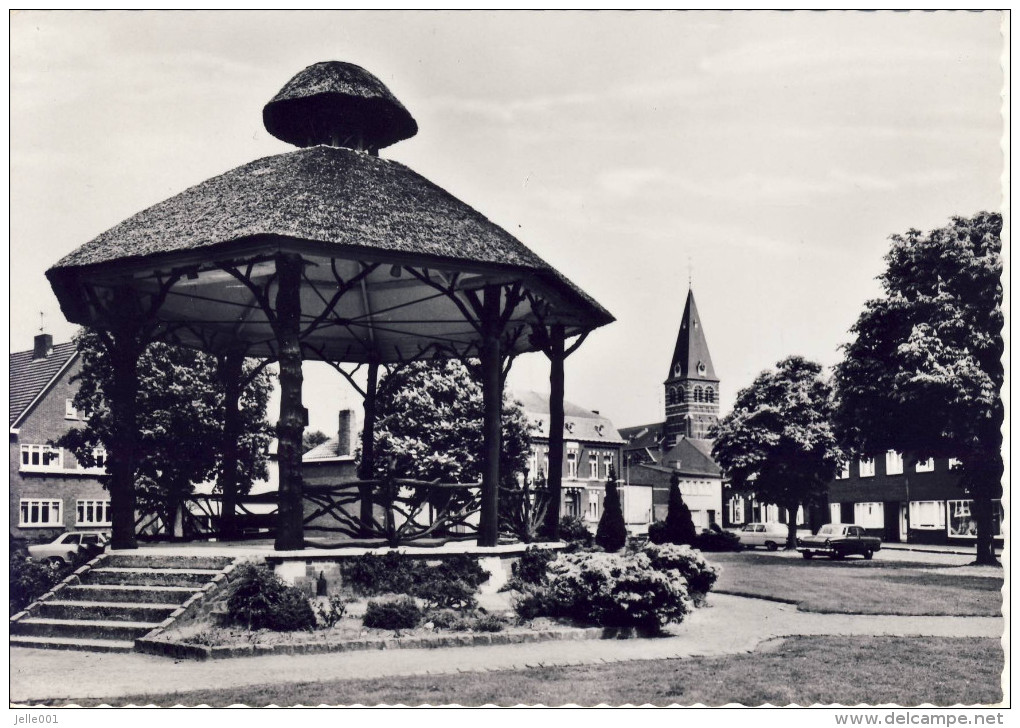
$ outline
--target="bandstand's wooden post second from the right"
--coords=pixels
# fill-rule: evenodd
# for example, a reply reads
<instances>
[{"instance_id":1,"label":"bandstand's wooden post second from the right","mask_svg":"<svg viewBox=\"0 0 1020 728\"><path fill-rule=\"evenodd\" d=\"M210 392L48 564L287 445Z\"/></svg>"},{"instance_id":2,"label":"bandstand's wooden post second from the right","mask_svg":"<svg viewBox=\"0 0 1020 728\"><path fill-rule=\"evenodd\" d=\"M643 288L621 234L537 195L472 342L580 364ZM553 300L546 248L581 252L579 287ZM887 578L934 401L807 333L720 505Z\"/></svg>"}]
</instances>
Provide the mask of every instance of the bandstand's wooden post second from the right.
<instances>
[{"instance_id":1,"label":"bandstand's wooden post second from the right","mask_svg":"<svg viewBox=\"0 0 1020 728\"><path fill-rule=\"evenodd\" d=\"M500 351L500 289L487 285L481 310L482 422L481 514L478 545L499 542L500 453L503 435L503 356Z\"/></svg>"}]
</instances>

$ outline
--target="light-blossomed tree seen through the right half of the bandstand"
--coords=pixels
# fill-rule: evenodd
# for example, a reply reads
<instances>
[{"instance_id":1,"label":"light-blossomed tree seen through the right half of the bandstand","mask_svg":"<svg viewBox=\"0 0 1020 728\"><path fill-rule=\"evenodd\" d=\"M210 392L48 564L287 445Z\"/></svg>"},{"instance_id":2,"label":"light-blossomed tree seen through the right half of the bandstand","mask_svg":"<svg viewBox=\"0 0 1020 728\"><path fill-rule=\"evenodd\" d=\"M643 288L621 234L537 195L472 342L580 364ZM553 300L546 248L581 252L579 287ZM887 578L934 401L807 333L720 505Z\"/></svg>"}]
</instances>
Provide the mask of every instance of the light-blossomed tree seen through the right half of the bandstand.
<instances>
[{"instance_id":1,"label":"light-blossomed tree seen through the right half of the bandstand","mask_svg":"<svg viewBox=\"0 0 1020 728\"><path fill-rule=\"evenodd\" d=\"M376 402L375 474L443 482L481 480L481 387L458 360L419 361L382 377ZM531 426L520 405L503 401L502 485L527 466Z\"/></svg>"}]
</instances>

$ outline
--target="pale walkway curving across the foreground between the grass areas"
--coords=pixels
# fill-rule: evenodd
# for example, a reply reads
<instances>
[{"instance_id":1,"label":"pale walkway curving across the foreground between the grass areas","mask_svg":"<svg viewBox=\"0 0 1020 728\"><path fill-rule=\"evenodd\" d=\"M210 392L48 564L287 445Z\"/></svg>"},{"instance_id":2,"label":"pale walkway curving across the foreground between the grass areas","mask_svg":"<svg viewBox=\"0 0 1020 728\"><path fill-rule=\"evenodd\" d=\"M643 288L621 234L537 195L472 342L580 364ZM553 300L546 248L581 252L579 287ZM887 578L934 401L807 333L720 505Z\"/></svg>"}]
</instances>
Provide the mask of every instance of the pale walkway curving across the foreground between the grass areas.
<instances>
[{"instance_id":1,"label":"pale walkway curving across the foreground between the grass areas","mask_svg":"<svg viewBox=\"0 0 1020 728\"><path fill-rule=\"evenodd\" d=\"M209 662L146 655L10 649L10 699L118 697L209 687L349 680L397 675L481 672L626 660L661 660L746 653L790 635L904 635L1001 637L999 617L892 617L798 612L789 605L726 594L710 596L659 639L593 639L526 644L401 649L308 656L271 656Z\"/></svg>"}]
</instances>

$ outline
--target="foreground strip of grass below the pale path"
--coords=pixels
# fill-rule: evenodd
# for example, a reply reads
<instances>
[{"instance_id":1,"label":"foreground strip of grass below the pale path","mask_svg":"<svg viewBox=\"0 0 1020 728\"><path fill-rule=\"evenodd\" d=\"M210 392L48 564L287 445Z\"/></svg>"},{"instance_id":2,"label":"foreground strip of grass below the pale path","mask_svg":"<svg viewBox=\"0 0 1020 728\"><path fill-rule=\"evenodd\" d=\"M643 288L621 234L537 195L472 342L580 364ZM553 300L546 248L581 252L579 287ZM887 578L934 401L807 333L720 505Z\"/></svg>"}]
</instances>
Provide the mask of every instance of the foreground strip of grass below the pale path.
<instances>
[{"instance_id":1,"label":"foreground strip of grass below the pale path","mask_svg":"<svg viewBox=\"0 0 1020 728\"><path fill-rule=\"evenodd\" d=\"M1003 666L996 639L789 637L723 658L256 685L113 705L990 705L1003 699Z\"/></svg>"}]
</instances>

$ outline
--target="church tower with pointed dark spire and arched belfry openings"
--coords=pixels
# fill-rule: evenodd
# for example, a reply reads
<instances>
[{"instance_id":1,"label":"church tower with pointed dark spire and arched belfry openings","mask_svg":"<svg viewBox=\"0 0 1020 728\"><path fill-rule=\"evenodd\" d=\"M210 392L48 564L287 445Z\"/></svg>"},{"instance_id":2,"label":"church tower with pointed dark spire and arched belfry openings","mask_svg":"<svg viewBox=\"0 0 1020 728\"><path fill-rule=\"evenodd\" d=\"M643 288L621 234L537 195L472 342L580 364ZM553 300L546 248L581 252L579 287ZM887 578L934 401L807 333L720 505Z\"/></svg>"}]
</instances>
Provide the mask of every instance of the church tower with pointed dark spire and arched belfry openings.
<instances>
[{"instance_id":1,"label":"church tower with pointed dark spire and arched belfry openings","mask_svg":"<svg viewBox=\"0 0 1020 728\"><path fill-rule=\"evenodd\" d=\"M719 421L719 379L712 367L694 290L687 291L665 387L665 446L672 447L681 435L708 438L709 430Z\"/></svg>"}]
</instances>

